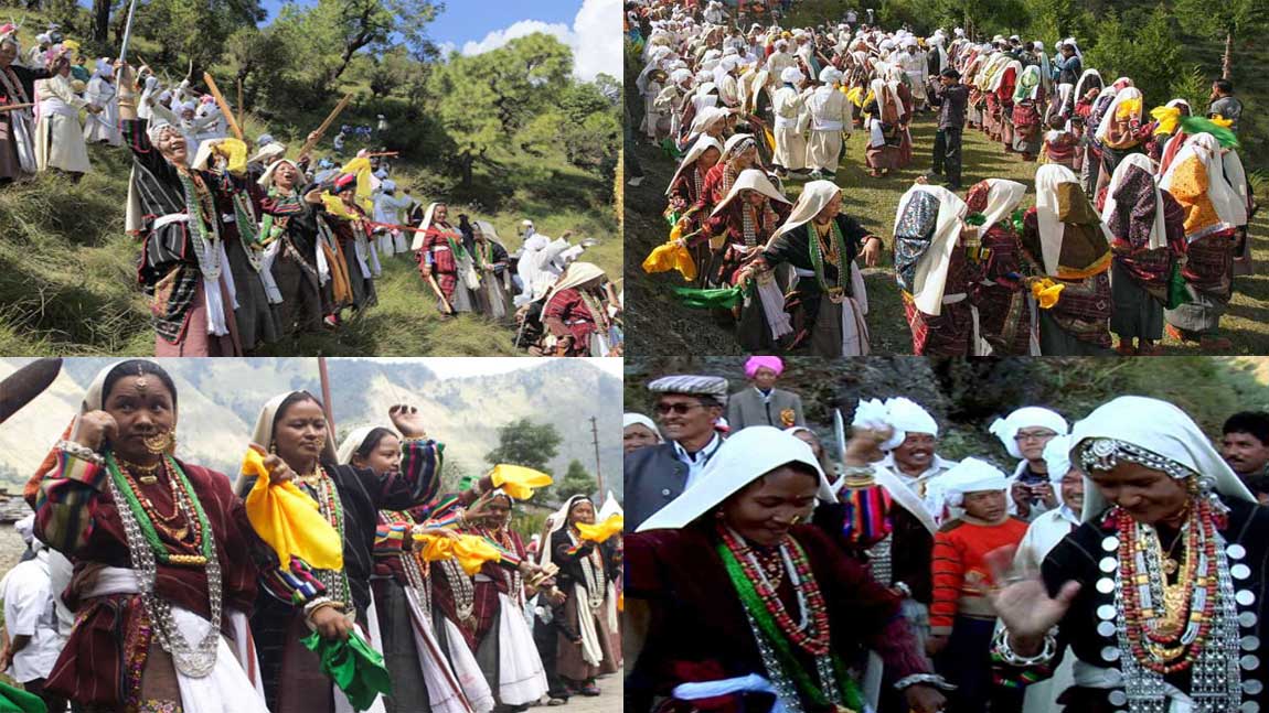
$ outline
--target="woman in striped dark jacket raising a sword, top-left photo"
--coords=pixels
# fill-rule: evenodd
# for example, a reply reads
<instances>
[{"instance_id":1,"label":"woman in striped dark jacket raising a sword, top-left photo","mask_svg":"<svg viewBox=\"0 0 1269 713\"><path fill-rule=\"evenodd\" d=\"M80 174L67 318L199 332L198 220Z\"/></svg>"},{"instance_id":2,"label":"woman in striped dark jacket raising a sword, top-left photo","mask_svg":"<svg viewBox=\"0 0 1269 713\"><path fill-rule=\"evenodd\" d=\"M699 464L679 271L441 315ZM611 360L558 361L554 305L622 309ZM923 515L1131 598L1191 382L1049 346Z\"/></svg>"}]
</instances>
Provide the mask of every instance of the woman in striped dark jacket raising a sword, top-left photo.
<instances>
[{"instance_id":1,"label":"woman in striped dark jacket raising a sword, top-left photo","mask_svg":"<svg viewBox=\"0 0 1269 713\"><path fill-rule=\"evenodd\" d=\"M151 299L155 355L240 356L216 196L241 189L228 171L192 168L194 157L176 127L137 119L132 68L117 65L117 71L119 119L143 217L137 281Z\"/></svg>"}]
</instances>

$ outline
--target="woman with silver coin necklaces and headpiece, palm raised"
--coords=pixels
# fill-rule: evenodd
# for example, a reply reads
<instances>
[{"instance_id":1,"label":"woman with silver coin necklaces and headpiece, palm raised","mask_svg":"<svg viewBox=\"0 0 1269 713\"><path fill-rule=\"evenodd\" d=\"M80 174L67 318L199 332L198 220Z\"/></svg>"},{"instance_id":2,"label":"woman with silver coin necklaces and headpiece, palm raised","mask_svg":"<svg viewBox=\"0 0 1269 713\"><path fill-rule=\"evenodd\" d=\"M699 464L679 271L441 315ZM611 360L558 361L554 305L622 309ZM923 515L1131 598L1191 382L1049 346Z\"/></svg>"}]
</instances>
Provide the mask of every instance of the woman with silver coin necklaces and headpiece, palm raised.
<instances>
[{"instance_id":1,"label":"woman with silver coin necklaces and headpiece, palm raised","mask_svg":"<svg viewBox=\"0 0 1269 713\"><path fill-rule=\"evenodd\" d=\"M1074 655L1067 712L1264 709L1269 510L1170 403L1121 396L1071 442L1084 524L1039 576L996 577L997 672L1025 685Z\"/></svg>"}]
</instances>

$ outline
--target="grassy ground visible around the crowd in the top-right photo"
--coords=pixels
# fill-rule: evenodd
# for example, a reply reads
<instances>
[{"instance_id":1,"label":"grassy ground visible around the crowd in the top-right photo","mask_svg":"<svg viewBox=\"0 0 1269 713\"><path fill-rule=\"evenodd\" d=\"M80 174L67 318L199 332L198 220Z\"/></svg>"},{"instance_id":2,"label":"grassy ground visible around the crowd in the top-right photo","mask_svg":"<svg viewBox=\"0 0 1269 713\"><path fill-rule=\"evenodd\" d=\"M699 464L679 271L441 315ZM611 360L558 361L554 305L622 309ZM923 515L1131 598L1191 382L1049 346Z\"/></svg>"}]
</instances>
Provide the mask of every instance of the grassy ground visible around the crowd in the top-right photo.
<instances>
[{"instance_id":1,"label":"grassy ground visible around the crowd in the top-right photo","mask_svg":"<svg viewBox=\"0 0 1269 713\"><path fill-rule=\"evenodd\" d=\"M843 186L843 210L891 244L898 199L911 187L914 179L929 170L934 144L934 120L921 117L912 124L912 165L884 179L873 179L864 167L865 134L857 130L846 142L836 182ZM647 179L638 187L626 189L626 243L628 246L629 300L637 305L627 314L629 352L637 355L739 355L742 353L730 328L721 327L704 312L690 310L674 301L670 289L683 285L676 272L646 275L640 265L647 253L665 242L667 227L661 218L664 191L674 175L675 165L662 151L640 147L638 160ZM982 179L1010 179L1027 184L1028 195L1022 206L1034 205L1037 163L1028 163L1005 155L999 143L989 142L981 132L964 138L966 186ZM786 191L796 199L802 181L786 181ZM963 195L963 194L962 194ZM1265 198L1260 199L1265 203ZM1232 355L1269 353L1269 218L1261 211L1251 223L1253 252L1260 265L1259 274L1239 277L1230 309L1221 320L1222 333L1233 342ZM886 265L864 268L868 284L868 328L873 353L911 353L911 333L904 319L904 305L895 285L887 255ZM1166 355L1202 353L1194 344L1181 344L1165 338ZM794 353L806 353L794 352Z\"/></svg>"}]
</instances>

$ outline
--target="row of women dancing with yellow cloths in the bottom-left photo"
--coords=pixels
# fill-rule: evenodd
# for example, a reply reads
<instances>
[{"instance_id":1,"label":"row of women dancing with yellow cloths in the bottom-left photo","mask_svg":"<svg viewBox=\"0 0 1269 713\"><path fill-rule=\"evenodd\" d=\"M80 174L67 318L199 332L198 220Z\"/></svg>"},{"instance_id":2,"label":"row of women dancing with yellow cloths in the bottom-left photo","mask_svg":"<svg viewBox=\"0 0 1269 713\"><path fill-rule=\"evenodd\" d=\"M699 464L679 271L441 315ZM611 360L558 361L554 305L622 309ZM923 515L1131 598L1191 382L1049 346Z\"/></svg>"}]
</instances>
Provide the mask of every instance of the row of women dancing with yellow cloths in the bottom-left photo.
<instances>
[{"instance_id":1,"label":"row of women dancing with yellow cloths in the bottom-left photo","mask_svg":"<svg viewBox=\"0 0 1269 713\"><path fill-rule=\"evenodd\" d=\"M407 404L336 450L319 399L279 394L236 479L180 456L178 413L157 363L112 365L27 484L0 670L47 713L506 713L621 666L610 495L529 537L511 515L543 480L442 491Z\"/></svg>"}]
</instances>

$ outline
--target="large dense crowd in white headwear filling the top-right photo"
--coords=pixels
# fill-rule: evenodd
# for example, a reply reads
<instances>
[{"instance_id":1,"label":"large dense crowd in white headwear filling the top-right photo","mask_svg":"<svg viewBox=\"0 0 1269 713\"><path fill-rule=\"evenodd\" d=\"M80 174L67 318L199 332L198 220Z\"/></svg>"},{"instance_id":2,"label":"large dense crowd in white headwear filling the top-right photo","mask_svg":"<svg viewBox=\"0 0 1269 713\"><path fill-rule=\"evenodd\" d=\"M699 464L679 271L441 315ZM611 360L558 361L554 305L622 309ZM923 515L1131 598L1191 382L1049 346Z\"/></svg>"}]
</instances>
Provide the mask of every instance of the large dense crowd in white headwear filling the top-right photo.
<instances>
[{"instance_id":1,"label":"large dense crowd in white headwear filling the top-right photo","mask_svg":"<svg viewBox=\"0 0 1269 713\"><path fill-rule=\"evenodd\" d=\"M1221 317L1251 270L1256 205L1228 80L1207 106L1157 96L1152 109L1131 77L1086 67L1074 38L1049 54L961 28L769 16L627 3L638 132L679 162L669 239L643 270L678 270L690 284L678 298L735 324L744 350L867 355L869 328L890 325L869 324L859 267L883 251L915 355L1148 356L1165 332L1232 348ZM930 172L901 198L892 234L873 234L863 223L890 217L851 213L851 186L835 182L851 160L844 139L865 134L863 163L883 181L912 163L923 114L937 122ZM1034 186L966 181L967 130L1039 162Z\"/></svg>"}]
</instances>

